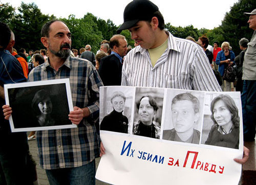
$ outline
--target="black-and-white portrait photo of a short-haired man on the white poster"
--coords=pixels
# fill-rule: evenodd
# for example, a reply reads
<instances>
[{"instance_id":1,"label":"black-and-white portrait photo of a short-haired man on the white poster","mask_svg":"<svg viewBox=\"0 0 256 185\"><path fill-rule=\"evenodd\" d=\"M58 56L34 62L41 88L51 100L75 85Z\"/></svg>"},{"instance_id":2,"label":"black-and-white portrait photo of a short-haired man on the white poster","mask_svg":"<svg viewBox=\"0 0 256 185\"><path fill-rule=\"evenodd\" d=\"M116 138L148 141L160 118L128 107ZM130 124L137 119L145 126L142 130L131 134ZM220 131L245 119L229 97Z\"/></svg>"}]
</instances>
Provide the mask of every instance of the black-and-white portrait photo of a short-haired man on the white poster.
<instances>
[{"instance_id":1,"label":"black-and-white portrait photo of a short-haired man on the white poster","mask_svg":"<svg viewBox=\"0 0 256 185\"><path fill-rule=\"evenodd\" d=\"M167 90L163 140L199 144L203 92Z\"/></svg>"}]
</instances>

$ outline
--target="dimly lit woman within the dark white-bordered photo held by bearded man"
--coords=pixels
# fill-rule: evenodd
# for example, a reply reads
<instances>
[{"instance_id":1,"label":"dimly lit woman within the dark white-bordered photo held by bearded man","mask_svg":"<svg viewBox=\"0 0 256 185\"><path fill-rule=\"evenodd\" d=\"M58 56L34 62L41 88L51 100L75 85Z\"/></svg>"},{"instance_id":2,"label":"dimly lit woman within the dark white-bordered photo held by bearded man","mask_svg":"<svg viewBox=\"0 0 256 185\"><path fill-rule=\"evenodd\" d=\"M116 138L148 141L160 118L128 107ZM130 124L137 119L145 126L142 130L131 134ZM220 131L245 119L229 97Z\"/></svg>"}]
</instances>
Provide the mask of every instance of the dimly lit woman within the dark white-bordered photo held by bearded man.
<instances>
[{"instance_id":1,"label":"dimly lit woman within the dark white-bordered photo held by bearded man","mask_svg":"<svg viewBox=\"0 0 256 185\"><path fill-rule=\"evenodd\" d=\"M49 93L44 90L38 90L32 100L32 108L39 126L54 126L55 121L52 118L52 101Z\"/></svg>"}]
</instances>

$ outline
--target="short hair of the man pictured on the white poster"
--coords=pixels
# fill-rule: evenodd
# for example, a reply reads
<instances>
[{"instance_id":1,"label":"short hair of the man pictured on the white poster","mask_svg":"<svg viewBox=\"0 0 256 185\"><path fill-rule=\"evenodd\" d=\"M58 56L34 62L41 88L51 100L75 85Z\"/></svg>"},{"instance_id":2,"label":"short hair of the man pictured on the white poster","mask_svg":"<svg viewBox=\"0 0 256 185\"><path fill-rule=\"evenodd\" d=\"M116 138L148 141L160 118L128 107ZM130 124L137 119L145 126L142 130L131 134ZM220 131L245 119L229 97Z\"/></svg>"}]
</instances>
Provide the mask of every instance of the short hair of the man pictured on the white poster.
<instances>
[{"instance_id":1,"label":"short hair of the man pictured on the white poster","mask_svg":"<svg viewBox=\"0 0 256 185\"><path fill-rule=\"evenodd\" d=\"M172 108L173 108L173 104L176 104L177 102L182 100L188 100L192 102L195 113L199 112L199 107L200 107L199 100L196 96L190 94L189 92L184 92L176 95L172 100Z\"/></svg>"}]
</instances>

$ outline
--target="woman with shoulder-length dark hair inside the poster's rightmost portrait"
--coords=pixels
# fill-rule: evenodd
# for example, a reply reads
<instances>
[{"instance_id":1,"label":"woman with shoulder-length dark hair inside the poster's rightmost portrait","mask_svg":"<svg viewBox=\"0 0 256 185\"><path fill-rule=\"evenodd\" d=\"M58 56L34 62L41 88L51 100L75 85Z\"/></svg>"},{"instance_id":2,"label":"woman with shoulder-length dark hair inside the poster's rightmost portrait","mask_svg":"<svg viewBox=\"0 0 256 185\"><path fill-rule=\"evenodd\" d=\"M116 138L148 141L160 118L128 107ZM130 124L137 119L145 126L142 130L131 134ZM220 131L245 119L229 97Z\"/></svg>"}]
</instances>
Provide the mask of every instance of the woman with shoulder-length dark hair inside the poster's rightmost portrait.
<instances>
[{"instance_id":1,"label":"woman with shoulder-length dark hair inside the poster's rightmost portrait","mask_svg":"<svg viewBox=\"0 0 256 185\"><path fill-rule=\"evenodd\" d=\"M212 100L210 111L214 125L205 144L238 149L240 118L234 100L228 95L219 95Z\"/></svg>"}]
</instances>

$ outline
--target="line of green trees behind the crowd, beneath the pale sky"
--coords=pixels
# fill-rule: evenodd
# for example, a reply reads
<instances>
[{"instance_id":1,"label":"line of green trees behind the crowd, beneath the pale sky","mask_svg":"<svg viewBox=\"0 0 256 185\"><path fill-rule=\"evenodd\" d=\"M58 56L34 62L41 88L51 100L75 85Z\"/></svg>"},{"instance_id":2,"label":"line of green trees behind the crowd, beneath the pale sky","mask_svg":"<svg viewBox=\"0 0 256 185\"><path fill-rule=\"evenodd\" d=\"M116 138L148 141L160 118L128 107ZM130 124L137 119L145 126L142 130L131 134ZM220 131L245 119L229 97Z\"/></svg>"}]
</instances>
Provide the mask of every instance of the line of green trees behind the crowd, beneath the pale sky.
<instances>
[{"instance_id":1,"label":"line of green trees behind the crowd, beneath the pale sky","mask_svg":"<svg viewBox=\"0 0 256 185\"><path fill-rule=\"evenodd\" d=\"M248 16L244 15L244 12L251 12L255 7L255 0L239 0L226 13L222 25L212 30L205 28L198 30L193 25L174 27L169 23L165 25L165 28L180 38L191 36L198 40L198 37L205 35L209 38L211 45L214 41L219 41L220 44L223 41L228 41L233 51L238 54L240 52L239 40L242 37L250 39L253 33L253 30L248 27ZM49 20L56 19L56 17L42 14L34 3L25 4L22 2L17 10L16 13L15 8L8 3L0 6L0 21L6 22L15 34L16 44L14 47L16 49L25 48L27 51L44 48L40 42L42 25ZM86 44L90 44L94 53L99 49L100 41L103 39L110 40L118 28L112 20L105 21L91 13L87 13L79 19L75 15L70 15L68 18L61 18L61 20L67 23L72 33L72 48L79 50ZM121 34L126 37L128 45L134 45L134 40L131 39L128 30L122 31Z\"/></svg>"}]
</instances>

